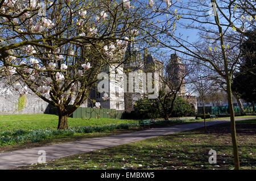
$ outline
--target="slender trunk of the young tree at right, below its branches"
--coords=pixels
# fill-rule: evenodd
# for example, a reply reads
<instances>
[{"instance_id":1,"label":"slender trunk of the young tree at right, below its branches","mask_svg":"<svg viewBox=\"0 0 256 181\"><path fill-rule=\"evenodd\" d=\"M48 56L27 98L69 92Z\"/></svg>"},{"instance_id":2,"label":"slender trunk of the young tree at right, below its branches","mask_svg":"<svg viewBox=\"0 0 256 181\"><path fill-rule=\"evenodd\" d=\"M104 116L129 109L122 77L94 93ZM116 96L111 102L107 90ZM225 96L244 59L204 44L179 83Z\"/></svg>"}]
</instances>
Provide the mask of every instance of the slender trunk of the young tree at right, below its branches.
<instances>
[{"instance_id":1,"label":"slender trunk of the young tree at right, below its branches","mask_svg":"<svg viewBox=\"0 0 256 181\"><path fill-rule=\"evenodd\" d=\"M234 154L234 166L236 170L240 169L239 154L238 154L238 145L237 145L237 136L236 136L236 123L234 117L233 109L233 100L232 100L232 90L231 90L231 81L227 78L227 94L228 94L228 104L230 112L230 129L232 136L232 145L233 145L233 154Z\"/></svg>"}]
</instances>

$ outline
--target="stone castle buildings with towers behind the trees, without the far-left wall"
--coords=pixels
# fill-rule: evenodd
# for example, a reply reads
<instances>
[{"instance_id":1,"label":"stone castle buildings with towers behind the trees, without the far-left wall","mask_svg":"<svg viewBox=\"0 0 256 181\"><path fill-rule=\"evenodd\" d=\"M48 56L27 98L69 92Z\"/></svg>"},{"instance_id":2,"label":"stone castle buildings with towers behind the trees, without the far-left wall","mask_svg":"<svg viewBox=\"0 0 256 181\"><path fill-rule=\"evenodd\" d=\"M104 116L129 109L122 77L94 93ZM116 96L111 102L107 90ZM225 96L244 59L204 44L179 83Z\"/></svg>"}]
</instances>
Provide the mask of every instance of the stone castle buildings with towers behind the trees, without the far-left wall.
<instances>
[{"instance_id":1,"label":"stone castle buildings with towers behind the trees, without the far-left wall","mask_svg":"<svg viewBox=\"0 0 256 181\"><path fill-rule=\"evenodd\" d=\"M125 56L125 64L119 66L117 69L115 66L109 66L108 68L109 82L107 86L109 86L109 99L102 100L104 92L100 93L97 89L93 89L90 91L88 101L83 105L83 107L93 107L94 102L92 100L95 100L96 102L101 103L102 108L115 109L118 111L132 111L137 100L148 96L147 90L142 89L143 84L147 85L148 83L146 81L146 78L148 79L148 75L143 78L143 74L159 73L160 77L164 76L163 62L154 58L152 54L149 54L147 49L144 49L143 58L141 57L141 53L138 52L135 45L129 44ZM131 77L130 73L135 73L139 76ZM185 81L183 78L184 65L176 52L171 54L165 73L166 76L170 78L168 82L172 85L169 87L166 86L164 90L168 91L170 87L175 89L176 87L179 87L179 81L182 81L180 88L177 88L179 89L177 95L187 100L191 106L195 108L195 111L197 111L196 96L188 96L185 94ZM163 86L163 82L160 81L158 87L161 86ZM132 91L128 91L130 88Z\"/></svg>"}]
</instances>

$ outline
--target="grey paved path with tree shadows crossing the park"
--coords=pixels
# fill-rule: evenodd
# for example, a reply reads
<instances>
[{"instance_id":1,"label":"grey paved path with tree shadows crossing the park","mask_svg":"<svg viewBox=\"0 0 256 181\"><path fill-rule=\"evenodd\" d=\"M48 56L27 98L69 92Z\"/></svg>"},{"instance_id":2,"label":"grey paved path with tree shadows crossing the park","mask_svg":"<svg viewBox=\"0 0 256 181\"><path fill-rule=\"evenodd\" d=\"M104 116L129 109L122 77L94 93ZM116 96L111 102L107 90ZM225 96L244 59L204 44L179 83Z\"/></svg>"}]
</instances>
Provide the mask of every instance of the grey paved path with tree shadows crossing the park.
<instances>
[{"instance_id":1,"label":"grey paved path with tree shadows crossing the park","mask_svg":"<svg viewBox=\"0 0 256 181\"><path fill-rule=\"evenodd\" d=\"M256 119L256 117L237 118L236 120ZM228 119L208 121L207 126L226 123ZM93 150L104 149L111 146L127 144L134 141L146 140L148 138L189 131L191 129L204 127L204 123L191 123L176 125L166 128L152 128L145 131L118 134L108 137L92 138L81 141L67 142L63 144L42 146L31 149L16 150L0 154L0 169L13 169L22 165L31 165L38 162L39 150L46 151L46 160L67 157L69 155L86 153Z\"/></svg>"}]
</instances>

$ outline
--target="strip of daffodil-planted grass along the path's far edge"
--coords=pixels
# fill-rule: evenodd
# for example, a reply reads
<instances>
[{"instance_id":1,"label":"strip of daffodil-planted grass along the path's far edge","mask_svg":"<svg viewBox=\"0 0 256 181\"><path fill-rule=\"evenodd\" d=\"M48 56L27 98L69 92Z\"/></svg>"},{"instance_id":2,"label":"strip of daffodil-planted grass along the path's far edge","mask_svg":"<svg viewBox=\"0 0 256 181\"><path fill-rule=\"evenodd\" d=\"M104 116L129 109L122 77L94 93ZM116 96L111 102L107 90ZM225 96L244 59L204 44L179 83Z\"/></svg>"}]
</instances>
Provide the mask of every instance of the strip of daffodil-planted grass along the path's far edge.
<instances>
[{"instance_id":1,"label":"strip of daffodil-planted grass along the path's far edge","mask_svg":"<svg viewBox=\"0 0 256 181\"><path fill-rule=\"evenodd\" d=\"M167 127L177 124L187 124L195 123L195 119L189 120L168 120L168 121L154 121L151 127ZM31 131L26 131L24 129L18 129L16 131L4 131L0 132L0 151L15 150L20 149L22 145L23 148L32 147L36 142L41 142L42 146L49 144L48 141L52 143L60 141L74 141L75 138L88 138L90 136L95 136L102 133L110 135L116 134L118 130L134 132L139 131L144 128L140 128L138 122L135 123L121 123L121 124L110 124L110 125L97 125L97 126L79 126L79 127L69 127L64 130L54 129L33 129ZM67 138L66 140L60 140L60 138ZM35 144L38 146L38 144Z\"/></svg>"}]
</instances>

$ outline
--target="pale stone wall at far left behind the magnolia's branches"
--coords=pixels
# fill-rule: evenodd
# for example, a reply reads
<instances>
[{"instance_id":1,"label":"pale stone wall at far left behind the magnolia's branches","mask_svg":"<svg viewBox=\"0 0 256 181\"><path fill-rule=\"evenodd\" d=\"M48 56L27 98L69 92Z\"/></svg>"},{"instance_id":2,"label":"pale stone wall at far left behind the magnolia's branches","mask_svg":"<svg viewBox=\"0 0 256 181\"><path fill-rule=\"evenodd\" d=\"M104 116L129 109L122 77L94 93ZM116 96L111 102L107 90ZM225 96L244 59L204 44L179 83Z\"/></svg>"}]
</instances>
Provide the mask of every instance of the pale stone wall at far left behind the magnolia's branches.
<instances>
[{"instance_id":1,"label":"pale stone wall at far left behind the magnolia's branches","mask_svg":"<svg viewBox=\"0 0 256 181\"><path fill-rule=\"evenodd\" d=\"M47 102L35 94L27 94L26 97L26 106L22 111L18 111L18 92L0 82L0 114L49 113Z\"/></svg>"}]
</instances>

